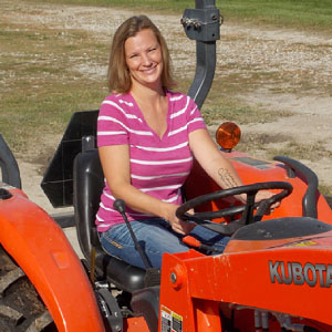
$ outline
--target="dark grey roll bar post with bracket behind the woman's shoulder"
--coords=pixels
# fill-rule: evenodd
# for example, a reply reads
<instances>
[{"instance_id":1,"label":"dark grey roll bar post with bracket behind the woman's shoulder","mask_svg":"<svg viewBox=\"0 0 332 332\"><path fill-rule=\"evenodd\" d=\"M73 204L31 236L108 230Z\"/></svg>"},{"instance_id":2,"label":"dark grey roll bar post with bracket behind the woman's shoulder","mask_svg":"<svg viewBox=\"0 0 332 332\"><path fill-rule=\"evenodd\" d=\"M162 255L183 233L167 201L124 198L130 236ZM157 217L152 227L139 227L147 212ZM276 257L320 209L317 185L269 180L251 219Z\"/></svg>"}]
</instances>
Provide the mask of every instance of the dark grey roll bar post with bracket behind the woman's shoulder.
<instances>
[{"instance_id":1,"label":"dark grey roll bar post with bracket behind the woman's shoulder","mask_svg":"<svg viewBox=\"0 0 332 332\"><path fill-rule=\"evenodd\" d=\"M216 41L220 39L220 14L215 0L196 0L181 18L187 37L196 40L196 73L188 95L199 108L211 87L216 70Z\"/></svg>"}]
</instances>

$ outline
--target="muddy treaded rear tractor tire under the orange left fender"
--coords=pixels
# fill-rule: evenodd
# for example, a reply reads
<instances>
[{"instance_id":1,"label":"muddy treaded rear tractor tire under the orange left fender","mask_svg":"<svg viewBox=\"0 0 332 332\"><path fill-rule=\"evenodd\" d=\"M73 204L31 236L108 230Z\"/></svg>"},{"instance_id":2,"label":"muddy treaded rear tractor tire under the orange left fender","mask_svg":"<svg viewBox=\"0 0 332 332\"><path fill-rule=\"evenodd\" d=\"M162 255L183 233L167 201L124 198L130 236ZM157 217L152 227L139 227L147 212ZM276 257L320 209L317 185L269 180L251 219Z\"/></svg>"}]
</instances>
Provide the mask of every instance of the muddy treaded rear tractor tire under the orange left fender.
<instances>
[{"instance_id":1,"label":"muddy treaded rear tractor tire under the orange left fender","mask_svg":"<svg viewBox=\"0 0 332 332\"><path fill-rule=\"evenodd\" d=\"M2 247L0 247L0 331L58 331L34 287Z\"/></svg>"}]
</instances>

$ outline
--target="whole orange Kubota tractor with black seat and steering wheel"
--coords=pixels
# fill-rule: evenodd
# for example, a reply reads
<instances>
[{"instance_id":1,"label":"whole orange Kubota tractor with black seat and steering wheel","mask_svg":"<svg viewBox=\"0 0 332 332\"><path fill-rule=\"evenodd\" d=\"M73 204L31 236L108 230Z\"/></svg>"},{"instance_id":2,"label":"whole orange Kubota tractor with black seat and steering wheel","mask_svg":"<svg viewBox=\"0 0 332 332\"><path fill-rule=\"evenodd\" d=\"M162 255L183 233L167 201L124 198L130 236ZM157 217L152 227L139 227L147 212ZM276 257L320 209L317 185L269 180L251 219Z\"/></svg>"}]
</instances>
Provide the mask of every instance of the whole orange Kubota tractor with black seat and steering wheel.
<instances>
[{"instance_id":1,"label":"whole orange Kubota tractor with black seat and steering wheel","mask_svg":"<svg viewBox=\"0 0 332 332\"><path fill-rule=\"evenodd\" d=\"M181 22L197 43L189 95L201 106L219 39L215 1L196 0ZM0 135L0 331L332 331L332 210L311 169L284 156L267 162L237 153L239 128L220 126L220 153L246 185L220 190L195 165L177 214L187 219L195 208L196 222L230 235L225 252L205 256L195 249L205 243L185 238L188 252L165 253L160 271L139 269L98 243L96 117L97 111L73 115L42 181L52 205L73 206L74 216L50 216L29 200ZM256 206L261 189L276 195ZM240 193L245 206L235 198ZM280 207L266 216L276 200ZM83 259L62 230L73 225Z\"/></svg>"}]
</instances>

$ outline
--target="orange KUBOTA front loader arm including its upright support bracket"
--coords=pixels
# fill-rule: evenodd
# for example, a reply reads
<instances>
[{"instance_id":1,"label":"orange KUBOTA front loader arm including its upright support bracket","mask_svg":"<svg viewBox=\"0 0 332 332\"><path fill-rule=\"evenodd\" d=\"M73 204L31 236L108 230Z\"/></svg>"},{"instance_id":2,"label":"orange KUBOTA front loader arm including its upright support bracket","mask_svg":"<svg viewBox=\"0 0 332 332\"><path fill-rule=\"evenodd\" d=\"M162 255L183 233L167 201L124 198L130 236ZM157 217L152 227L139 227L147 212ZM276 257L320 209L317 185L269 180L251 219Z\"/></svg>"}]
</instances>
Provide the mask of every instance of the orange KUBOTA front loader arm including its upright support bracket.
<instances>
[{"instance_id":1,"label":"orange KUBOTA front loader arm including its upright support bracket","mask_svg":"<svg viewBox=\"0 0 332 332\"><path fill-rule=\"evenodd\" d=\"M212 257L194 250L165 255L160 317L170 312L179 318L184 332L222 331L218 305L224 302L238 309L303 318L303 324L305 320L315 321L323 331L332 331L329 242L325 238L309 241L308 247L304 243Z\"/></svg>"}]
</instances>

